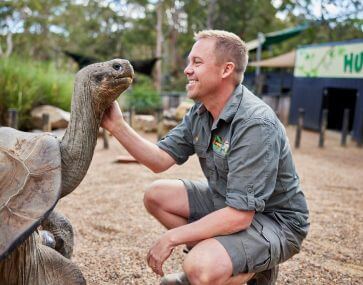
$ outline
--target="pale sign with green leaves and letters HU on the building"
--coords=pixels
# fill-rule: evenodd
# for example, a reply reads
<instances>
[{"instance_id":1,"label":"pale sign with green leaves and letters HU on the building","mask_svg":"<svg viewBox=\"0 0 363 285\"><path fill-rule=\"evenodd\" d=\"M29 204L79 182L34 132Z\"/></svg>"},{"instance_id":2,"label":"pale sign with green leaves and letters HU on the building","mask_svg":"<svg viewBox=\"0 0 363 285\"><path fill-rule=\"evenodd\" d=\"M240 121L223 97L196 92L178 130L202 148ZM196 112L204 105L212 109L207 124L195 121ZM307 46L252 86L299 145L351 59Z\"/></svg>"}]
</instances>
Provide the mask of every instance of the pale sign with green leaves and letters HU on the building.
<instances>
[{"instance_id":1,"label":"pale sign with green leaves and letters HU on the building","mask_svg":"<svg viewBox=\"0 0 363 285\"><path fill-rule=\"evenodd\" d=\"M300 48L294 75L363 78L363 42Z\"/></svg>"}]
</instances>

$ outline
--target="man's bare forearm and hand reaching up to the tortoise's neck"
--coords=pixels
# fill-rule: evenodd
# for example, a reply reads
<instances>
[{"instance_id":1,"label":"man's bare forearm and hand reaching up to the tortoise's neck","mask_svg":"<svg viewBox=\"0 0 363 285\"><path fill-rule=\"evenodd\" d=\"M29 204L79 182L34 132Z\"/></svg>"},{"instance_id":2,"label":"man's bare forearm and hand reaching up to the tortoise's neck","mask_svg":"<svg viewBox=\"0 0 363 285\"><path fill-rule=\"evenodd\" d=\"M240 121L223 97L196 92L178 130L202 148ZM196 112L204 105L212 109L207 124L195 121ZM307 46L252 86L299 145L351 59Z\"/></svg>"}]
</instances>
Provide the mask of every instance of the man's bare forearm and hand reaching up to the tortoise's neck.
<instances>
[{"instance_id":1,"label":"man's bare forearm and hand reaching up to the tortoise's neck","mask_svg":"<svg viewBox=\"0 0 363 285\"><path fill-rule=\"evenodd\" d=\"M141 137L123 119L117 102L106 110L101 126L107 129L137 161L153 172L167 170L175 160L157 145Z\"/></svg>"}]
</instances>

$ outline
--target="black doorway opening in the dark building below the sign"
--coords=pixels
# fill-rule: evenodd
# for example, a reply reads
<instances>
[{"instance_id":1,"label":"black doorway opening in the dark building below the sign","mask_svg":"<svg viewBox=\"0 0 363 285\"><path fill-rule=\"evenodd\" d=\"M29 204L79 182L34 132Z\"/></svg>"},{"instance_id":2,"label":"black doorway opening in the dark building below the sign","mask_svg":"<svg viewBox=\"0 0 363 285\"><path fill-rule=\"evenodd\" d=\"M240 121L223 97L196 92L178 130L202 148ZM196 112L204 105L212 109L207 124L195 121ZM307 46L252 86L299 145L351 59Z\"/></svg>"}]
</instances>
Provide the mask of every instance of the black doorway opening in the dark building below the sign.
<instances>
[{"instance_id":1,"label":"black doorway opening in the dark building below the sign","mask_svg":"<svg viewBox=\"0 0 363 285\"><path fill-rule=\"evenodd\" d=\"M323 109L328 109L328 129L341 130L344 109L349 109L349 131L353 129L357 89L326 88L323 97Z\"/></svg>"}]
</instances>

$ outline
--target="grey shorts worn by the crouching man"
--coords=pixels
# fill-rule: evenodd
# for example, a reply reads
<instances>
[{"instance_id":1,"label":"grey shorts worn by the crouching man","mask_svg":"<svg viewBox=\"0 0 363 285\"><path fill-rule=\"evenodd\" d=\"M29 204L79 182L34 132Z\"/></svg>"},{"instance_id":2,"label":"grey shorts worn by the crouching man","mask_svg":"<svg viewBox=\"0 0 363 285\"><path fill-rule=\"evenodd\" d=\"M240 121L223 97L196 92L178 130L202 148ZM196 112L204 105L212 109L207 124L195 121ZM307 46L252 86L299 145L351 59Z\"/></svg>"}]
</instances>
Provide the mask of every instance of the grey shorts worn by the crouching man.
<instances>
[{"instance_id":1,"label":"grey shorts worn by the crouching man","mask_svg":"<svg viewBox=\"0 0 363 285\"><path fill-rule=\"evenodd\" d=\"M188 193L190 223L223 207L224 198L218 199L206 181L181 181ZM302 242L289 228L263 213L255 214L248 229L214 238L229 254L233 275L268 270L298 253Z\"/></svg>"}]
</instances>

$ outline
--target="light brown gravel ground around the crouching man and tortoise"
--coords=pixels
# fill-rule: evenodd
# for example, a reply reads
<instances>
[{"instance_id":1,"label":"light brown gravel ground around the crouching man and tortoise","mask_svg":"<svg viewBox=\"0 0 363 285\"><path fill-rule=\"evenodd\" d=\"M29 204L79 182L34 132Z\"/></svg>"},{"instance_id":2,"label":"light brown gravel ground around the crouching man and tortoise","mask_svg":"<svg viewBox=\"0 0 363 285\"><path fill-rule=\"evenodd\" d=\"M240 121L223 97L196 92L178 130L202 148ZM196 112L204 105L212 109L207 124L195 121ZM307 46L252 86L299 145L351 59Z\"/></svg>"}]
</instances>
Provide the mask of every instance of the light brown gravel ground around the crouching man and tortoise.
<instances>
[{"instance_id":1,"label":"light brown gravel ground around the crouching man and tortoise","mask_svg":"<svg viewBox=\"0 0 363 285\"><path fill-rule=\"evenodd\" d=\"M295 129L288 128L291 144ZM153 134L143 134L156 141ZM363 148L339 145L329 132L324 149L318 134L304 131L301 148L293 150L311 212L310 233L300 254L280 266L278 284L363 284ZM116 164L126 151L114 140L102 141L87 176L57 209L75 229L73 260L88 284L159 284L147 267L149 247L165 230L143 207L145 187L159 178L200 178L198 160L153 174L139 164ZM178 247L164 272L180 271Z\"/></svg>"}]
</instances>

